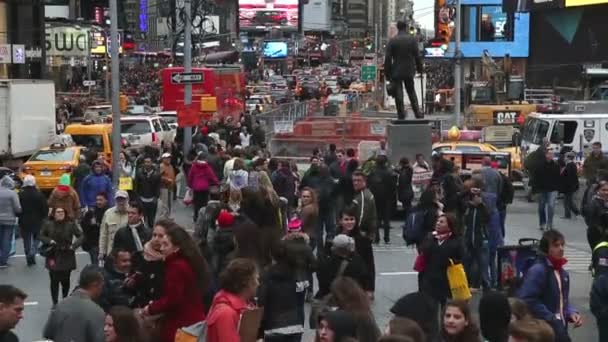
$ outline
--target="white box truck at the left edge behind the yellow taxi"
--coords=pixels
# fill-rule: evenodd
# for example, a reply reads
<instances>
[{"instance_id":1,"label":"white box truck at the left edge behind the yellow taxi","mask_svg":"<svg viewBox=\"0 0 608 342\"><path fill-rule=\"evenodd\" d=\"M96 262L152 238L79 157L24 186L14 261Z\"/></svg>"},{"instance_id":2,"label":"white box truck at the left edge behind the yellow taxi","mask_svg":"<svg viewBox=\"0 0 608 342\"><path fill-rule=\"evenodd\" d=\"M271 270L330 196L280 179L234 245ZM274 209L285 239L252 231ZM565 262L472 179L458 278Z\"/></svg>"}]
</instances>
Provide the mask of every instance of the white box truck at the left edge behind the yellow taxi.
<instances>
[{"instance_id":1,"label":"white box truck at the left edge behind the yellow taxi","mask_svg":"<svg viewBox=\"0 0 608 342\"><path fill-rule=\"evenodd\" d=\"M16 167L55 139L55 85L0 80L0 163Z\"/></svg>"}]
</instances>

